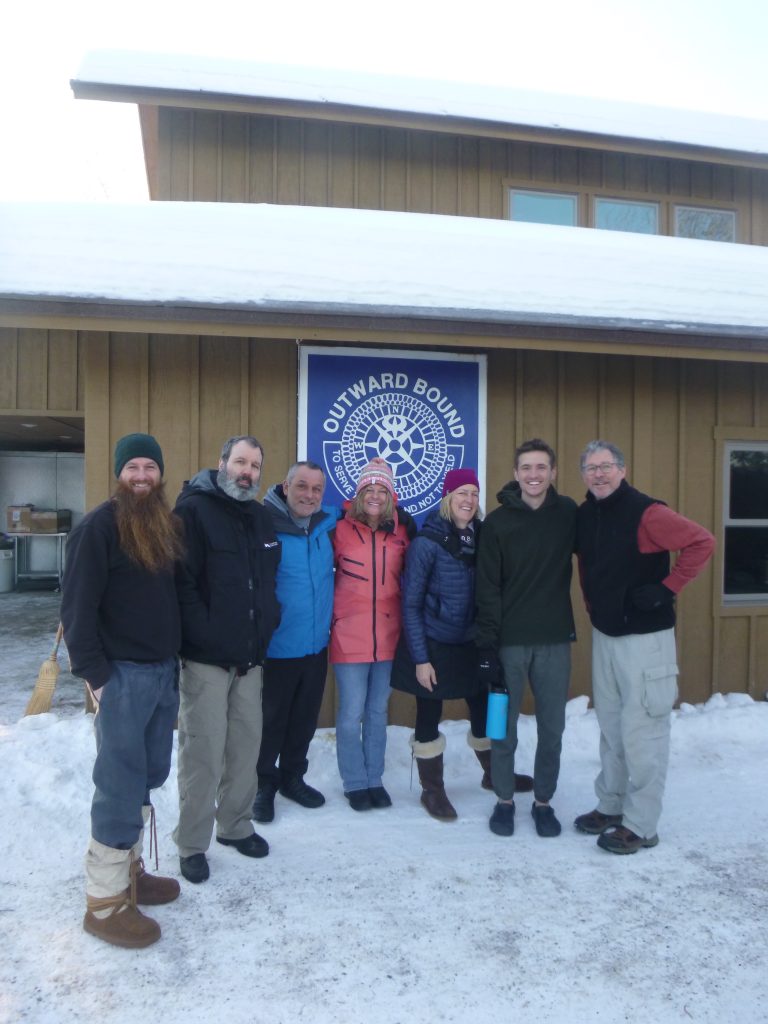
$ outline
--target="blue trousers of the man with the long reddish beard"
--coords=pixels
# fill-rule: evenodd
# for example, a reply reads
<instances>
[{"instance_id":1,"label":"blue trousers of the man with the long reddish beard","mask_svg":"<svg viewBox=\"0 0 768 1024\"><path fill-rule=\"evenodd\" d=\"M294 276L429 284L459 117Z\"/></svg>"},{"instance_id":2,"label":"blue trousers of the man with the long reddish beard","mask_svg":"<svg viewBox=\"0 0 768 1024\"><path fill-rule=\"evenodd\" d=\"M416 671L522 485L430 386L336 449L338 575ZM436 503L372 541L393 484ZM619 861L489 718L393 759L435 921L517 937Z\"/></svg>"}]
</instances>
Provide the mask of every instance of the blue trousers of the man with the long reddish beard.
<instances>
[{"instance_id":1,"label":"blue trousers of the man with the long reddish beard","mask_svg":"<svg viewBox=\"0 0 768 1024\"><path fill-rule=\"evenodd\" d=\"M171 770L178 714L178 659L111 662L94 721L91 836L116 850L130 850L143 828L141 808L150 790Z\"/></svg>"}]
</instances>

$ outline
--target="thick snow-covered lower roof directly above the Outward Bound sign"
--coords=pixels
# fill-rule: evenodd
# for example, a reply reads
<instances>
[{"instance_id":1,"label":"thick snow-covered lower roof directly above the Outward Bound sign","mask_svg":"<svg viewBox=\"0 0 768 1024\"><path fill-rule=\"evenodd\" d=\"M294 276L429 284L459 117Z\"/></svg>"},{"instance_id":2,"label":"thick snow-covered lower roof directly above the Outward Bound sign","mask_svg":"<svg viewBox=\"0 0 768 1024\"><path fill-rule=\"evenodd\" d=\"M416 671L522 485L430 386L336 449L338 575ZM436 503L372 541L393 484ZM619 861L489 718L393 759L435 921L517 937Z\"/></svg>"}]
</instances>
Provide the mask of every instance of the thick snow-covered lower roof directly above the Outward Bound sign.
<instances>
[{"instance_id":1,"label":"thick snow-covered lower roof directly above the Outward Bound sign","mask_svg":"<svg viewBox=\"0 0 768 1024\"><path fill-rule=\"evenodd\" d=\"M322 207L0 204L0 313L18 300L707 335L768 351L768 248Z\"/></svg>"}]
</instances>

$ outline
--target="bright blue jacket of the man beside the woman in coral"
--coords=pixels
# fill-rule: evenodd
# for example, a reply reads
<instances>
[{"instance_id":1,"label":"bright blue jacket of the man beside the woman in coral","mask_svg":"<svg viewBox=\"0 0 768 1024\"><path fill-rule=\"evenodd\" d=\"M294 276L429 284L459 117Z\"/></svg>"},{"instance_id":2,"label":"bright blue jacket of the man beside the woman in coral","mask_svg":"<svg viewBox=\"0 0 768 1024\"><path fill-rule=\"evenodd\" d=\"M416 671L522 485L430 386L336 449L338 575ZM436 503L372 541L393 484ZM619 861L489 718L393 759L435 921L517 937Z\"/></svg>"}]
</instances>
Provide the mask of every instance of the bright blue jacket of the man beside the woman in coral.
<instances>
[{"instance_id":1,"label":"bright blue jacket of the man beside the woman in coral","mask_svg":"<svg viewBox=\"0 0 768 1024\"><path fill-rule=\"evenodd\" d=\"M334 553L330 532L338 510L322 506L307 529L288 512L282 484L270 487L264 508L282 545L278 567L280 626L272 634L267 657L304 657L328 647L334 605Z\"/></svg>"}]
</instances>

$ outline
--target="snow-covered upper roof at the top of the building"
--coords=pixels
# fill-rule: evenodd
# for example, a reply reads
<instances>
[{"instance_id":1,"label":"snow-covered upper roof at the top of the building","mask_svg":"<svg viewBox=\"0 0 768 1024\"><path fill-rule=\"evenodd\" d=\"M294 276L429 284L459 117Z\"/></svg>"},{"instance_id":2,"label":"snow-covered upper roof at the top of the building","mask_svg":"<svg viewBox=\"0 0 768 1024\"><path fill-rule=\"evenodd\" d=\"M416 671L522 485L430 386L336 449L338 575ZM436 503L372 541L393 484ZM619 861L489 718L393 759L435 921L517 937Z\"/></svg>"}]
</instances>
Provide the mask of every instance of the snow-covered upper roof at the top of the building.
<instances>
[{"instance_id":1,"label":"snow-covered upper roof at the top of the building","mask_svg":"<svg viewBox=\"0 0 768 1024\"><path fill-rule=\"evenodd\" d=\"M76 95L179 104L217 97L230 101L283 100L329 109L421 116L442 130L469 122L556 134L561 141L598 136L768 156L768 122L695 111L668 110L584 96L501 86L294 68L182 54L102 50L86 55L73 80ZM152 98L151 98L152 97ZM155 102L161 101L154 98Z\"/></svg>"}]
</instances>

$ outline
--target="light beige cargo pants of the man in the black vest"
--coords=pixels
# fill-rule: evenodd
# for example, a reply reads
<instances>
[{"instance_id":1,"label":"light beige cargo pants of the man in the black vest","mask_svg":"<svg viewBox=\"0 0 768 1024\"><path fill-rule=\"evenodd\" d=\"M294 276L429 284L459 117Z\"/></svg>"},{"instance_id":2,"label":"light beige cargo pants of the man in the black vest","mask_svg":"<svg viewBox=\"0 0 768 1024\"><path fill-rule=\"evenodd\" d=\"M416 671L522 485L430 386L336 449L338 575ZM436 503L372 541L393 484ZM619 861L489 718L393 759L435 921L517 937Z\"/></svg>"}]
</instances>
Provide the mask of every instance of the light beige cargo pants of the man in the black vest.
<instances>
[{"instance_id":1,"label":"light beige cargo pants of the man in the black vest","mask_svg":"<svg viewBox=\"0 0 768 1024\"><path fill-rule=\"evenodd\" d=\"M656 834L677 699L675 631L609 637L592 630L592 693L600 724L597 809L637 836Z\"/></svg>"}]
</instances>

